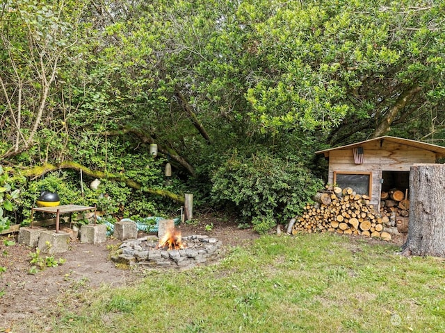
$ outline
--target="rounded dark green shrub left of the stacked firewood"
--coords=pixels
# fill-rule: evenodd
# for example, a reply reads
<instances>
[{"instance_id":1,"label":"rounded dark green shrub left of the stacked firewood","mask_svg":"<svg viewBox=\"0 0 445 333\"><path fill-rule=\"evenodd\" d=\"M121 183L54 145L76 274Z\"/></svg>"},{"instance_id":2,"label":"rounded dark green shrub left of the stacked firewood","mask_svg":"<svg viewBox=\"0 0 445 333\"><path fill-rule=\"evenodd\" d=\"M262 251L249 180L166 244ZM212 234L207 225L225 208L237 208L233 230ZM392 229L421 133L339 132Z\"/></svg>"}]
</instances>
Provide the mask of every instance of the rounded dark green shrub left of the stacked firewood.
<instances>
[{"instance_id":1,"label":"rounded dark green shrub left of the stacked firewood","mask_svg":"<svg viewBox=\"0 0 445 333\"><path fill-rule=\"evenodd\" d=\"M213 173L212 183L213 198L236 205L260 233L300 214L322 185L309 169L290 157L268 153L243 157L236 152Z\"/></svg>"}]
</instances>

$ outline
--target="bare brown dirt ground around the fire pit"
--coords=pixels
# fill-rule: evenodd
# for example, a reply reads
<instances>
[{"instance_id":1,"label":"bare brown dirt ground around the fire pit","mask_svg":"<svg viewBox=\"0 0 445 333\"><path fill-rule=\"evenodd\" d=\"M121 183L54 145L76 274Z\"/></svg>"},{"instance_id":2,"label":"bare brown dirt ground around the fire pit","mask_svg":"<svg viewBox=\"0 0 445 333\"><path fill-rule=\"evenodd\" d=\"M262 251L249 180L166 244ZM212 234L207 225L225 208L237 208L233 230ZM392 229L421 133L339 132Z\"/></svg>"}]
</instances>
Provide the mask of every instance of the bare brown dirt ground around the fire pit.
<instances>
[{"instance_id":1,"label":"bare brown dirt ground around the fire pit","mask_svg":"<svg viewBox=\"0 0 445 333\"><path fill-rule=\"evenodd\" d=\"M223 242L223 247L243 246L259 237L252 229L238 229L230 221L200 217L195 224L182 223L179 230L183 236L208 234ZM211 225L211 231L206 225ZM143 233L140 237L143 237ZM6 245L15 241L15 245ZM96 288L101 284L122 287L141 278L135 271L121 269L108 259L109 247L120 244L116 239L108 239L104 244L70 243L66 253L54 255L66 262L57 267L44 268L31 274L31 255L35 249L17 244L17 234L0 237L0 333L16 332L17 327L29 316L39 314L42 307L55 304L57 298L70 290Z\"/></svg>"}]
</instances>

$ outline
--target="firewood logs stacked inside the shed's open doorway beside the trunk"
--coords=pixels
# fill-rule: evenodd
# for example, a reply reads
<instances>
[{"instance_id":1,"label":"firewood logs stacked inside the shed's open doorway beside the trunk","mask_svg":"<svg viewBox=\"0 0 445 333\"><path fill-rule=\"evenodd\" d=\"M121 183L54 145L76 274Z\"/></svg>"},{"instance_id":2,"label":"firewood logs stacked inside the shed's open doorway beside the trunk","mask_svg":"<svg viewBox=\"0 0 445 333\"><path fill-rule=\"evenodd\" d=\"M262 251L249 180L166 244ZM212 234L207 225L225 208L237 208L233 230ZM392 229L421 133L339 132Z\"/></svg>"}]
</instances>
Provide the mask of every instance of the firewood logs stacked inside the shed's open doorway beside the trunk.
<instances>
[{"instance_id":1,"label":"firewood logs stacked inside the shed's open doorway beside the trunk","mask_svg":"<svg viewBox=\"0 0 445 333\"><path fill-rule=\"evenodd\" d=\"M407 233L410 216L410 200L400 189L382 191L380 194L380 215L386 216L390 227L397 227L398 232Z\"/></svg>"}]
</instances>

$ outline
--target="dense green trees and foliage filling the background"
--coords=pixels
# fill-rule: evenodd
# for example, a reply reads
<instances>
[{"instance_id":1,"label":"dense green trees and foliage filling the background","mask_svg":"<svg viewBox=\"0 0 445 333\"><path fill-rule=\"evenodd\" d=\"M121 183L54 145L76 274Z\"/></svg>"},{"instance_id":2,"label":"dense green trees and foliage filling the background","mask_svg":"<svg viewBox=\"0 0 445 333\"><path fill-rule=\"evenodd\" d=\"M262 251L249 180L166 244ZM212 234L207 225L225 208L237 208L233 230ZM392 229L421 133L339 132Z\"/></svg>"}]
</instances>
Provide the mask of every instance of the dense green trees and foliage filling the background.
<instances>
[{"instance_id":1,"label":"dense green trees and foliage filling the background","mask_svg":"<svg viewBox=\"0 0 445 333\"><path fill-rule=\"evenodd\" d=\"M78 171L57 171L44 186L44 170L20 176L73 161L145 189L191 191L197 207L235 207L264 231L310 198L323 174L315 151L385 134L445 140L441 2L8 0L0 9L0 162L22 189L10 214L18 222L44 186L64 203L99 203L87 193L93 176L81 184ZM179 205L106 178L100 194L118 216Z\"/></svg>"}]
</instances>

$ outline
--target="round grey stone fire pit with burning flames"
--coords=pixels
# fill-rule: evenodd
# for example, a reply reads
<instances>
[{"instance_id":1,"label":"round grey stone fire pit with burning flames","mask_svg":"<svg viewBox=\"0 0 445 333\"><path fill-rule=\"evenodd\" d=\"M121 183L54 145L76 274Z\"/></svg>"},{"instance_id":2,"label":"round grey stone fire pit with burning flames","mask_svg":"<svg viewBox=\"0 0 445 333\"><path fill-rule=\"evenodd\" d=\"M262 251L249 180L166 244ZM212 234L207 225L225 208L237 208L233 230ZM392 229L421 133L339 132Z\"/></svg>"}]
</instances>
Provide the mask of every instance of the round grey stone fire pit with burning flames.
<instances>
[{"instance_id":1,"label":"round grey stone fire pit with burning flames","mask_svg":"<svg viewBox=\"0 0 445 333\"><path fill-rule=\"evenodd\" d=\"M188 269L215 260L221 245L213 237L199 234L181 237L179 232L172 230L165 233L161 240L156 236L147 236L124 241L118 254L111 259L130 266Z\"/></svg>"}]
</instances>

